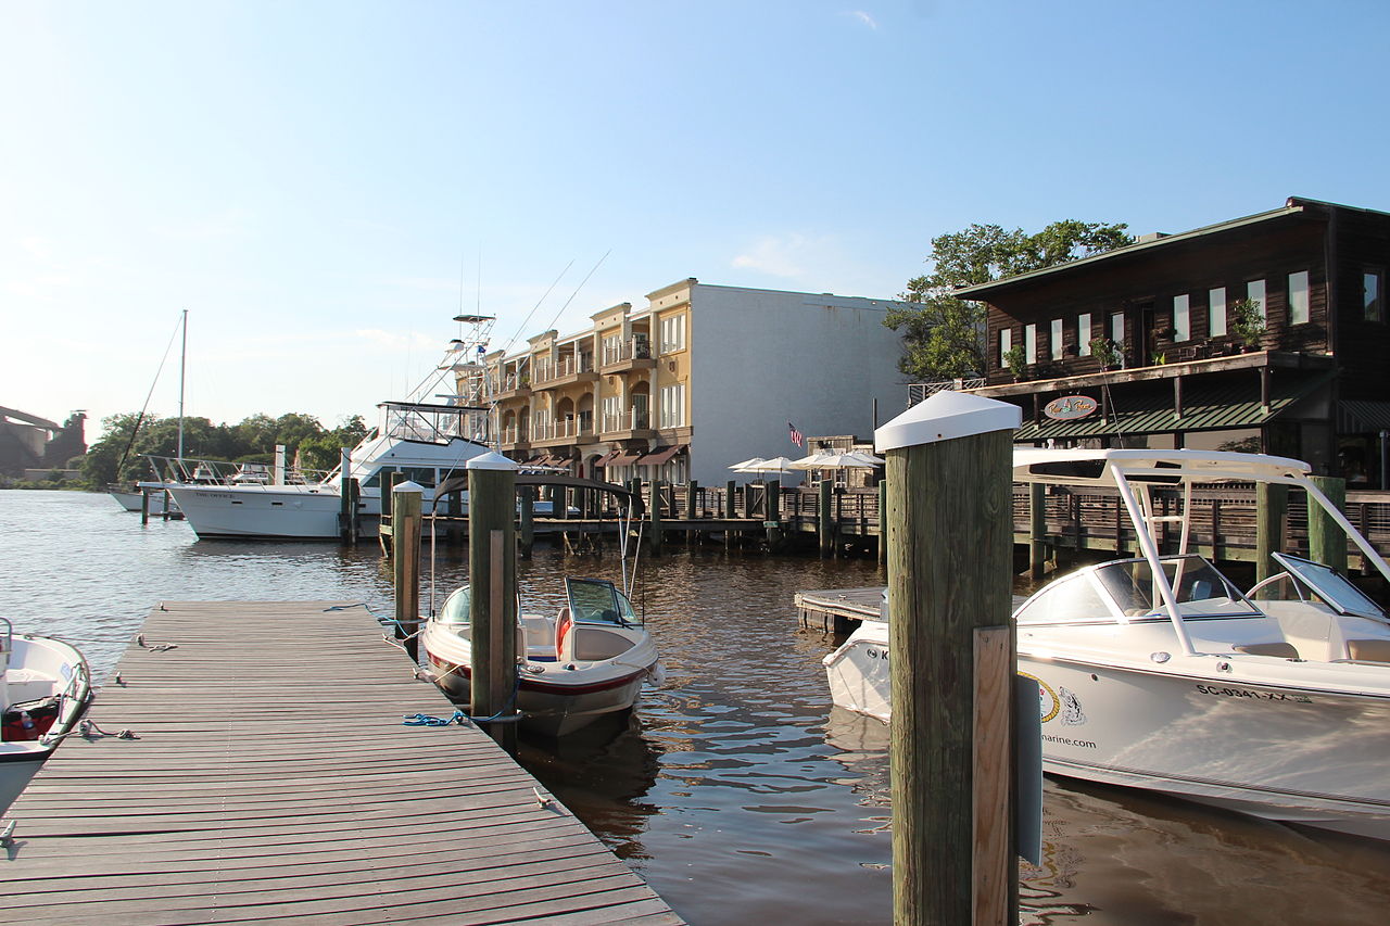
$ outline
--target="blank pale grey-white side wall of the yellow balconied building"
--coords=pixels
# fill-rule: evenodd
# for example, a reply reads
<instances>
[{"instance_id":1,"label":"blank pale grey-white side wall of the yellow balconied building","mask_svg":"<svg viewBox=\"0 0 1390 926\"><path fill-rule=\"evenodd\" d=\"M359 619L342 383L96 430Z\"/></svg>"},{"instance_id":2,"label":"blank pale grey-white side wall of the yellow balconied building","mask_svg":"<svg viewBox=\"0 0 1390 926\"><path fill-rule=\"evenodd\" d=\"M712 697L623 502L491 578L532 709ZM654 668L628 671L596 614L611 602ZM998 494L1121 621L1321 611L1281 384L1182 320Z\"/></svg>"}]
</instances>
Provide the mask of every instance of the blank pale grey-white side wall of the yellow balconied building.
<instances>
[{"instance_id":1,"label":"blank pale grey-white side wall of the yellow balconied building","mask_svg":"<svg viewBox=\"0 0 1390 926\"><path fill-rule=\"evenodd\" d=\"M873 432L906 405L890 300L694 284L689 331L691 477L721 485L730 463L803 456L787 423L816 434ZM748 477L737 477L746 480Z\"/></svg>"}]
</instances>

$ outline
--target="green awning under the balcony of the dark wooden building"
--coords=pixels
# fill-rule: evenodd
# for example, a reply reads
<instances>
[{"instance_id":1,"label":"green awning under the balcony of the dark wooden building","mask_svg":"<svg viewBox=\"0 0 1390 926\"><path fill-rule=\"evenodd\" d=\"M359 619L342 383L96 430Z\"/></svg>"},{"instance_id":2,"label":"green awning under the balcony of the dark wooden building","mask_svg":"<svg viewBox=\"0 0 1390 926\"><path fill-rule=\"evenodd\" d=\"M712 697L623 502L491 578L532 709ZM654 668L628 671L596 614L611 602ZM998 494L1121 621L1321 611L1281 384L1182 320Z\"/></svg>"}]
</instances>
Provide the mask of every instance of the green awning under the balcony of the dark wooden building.
<instances>
[{"instance_id":1,"label":"green awning under the balcony of the dark wooden building","mask_svg":"<svg viewBox=\"0 0 1390 926\"><path fill-rule=\"evenodd\" d=\"M1202 382L1194 377L1183 382L1183 414L1173 409L1172 381L1162 388L1126 389L1111 387L1109 413L1072 421L1042 419L1027 421L1013 435L1015 441L1047 441L1048 438L1083 438L1116 434L1172 434L1176 431L1225 431L1254 428L1279 417L1300 399L1332 381L1333 373L1318 375L1276 375L1269 384L1268 407L1259 402L1259 382ZM1147 385L1147 384L1145 384ZM1156 385L1156 384L1155 384ZM1086 393L1101 402L1095 389ZM1104 407L1104 406L1102 406ZM1027 416L1027 410L1024 410Z\"/></svg>"}]
</instances>

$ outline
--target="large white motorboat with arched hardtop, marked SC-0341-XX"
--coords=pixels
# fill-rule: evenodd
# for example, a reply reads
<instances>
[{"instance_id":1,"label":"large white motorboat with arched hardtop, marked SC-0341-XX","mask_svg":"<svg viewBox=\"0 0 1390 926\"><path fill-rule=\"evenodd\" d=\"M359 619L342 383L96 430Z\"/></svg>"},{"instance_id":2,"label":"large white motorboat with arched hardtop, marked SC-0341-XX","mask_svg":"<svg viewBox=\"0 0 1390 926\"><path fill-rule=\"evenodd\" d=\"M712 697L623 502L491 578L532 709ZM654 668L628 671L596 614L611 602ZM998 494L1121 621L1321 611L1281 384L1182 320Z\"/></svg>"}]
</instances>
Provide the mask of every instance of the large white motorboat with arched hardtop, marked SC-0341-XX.
<instances>
[{"instance_id":1,"label":"large white motorboat with arched hardtop, marked SC-0341-XX","mask_svg":"<svg viewBox=\"0 0 1390 926\"><path fill-rule=\"evenodd\" d=\"M1386 612L1301 556L1275 553L1279 570L1241 592L1188 552L1194 485L1291 485L1390 580L1308 473L1245 453L1015 452L1015 481L1116 489L1143 553L1063 576L1015 612L1044 770L1390 838ZM1179 487L1183 513L1156 514L1154 489ZM1159 549L1163 520L1180 524L1176 549ZM888 642L888 623L865 622L826 658L835 704L890 719Z\"/></svg>"}]
</instances>

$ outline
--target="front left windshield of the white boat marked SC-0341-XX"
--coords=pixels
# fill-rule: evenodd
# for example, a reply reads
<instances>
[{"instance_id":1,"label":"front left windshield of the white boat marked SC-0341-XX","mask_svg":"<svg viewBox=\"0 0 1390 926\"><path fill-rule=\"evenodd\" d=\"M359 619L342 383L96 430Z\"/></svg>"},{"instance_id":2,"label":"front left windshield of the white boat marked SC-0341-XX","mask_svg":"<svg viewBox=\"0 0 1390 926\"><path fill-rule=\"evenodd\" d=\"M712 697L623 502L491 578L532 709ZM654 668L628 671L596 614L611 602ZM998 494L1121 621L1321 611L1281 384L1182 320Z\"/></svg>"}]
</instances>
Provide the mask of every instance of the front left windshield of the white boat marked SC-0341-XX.
<instances>
[{"instance_id":1,"label":"front left windshield of the white boat marked SC-0341-XX","mask_svg":"<svg viewBox=\"0 0 1390 926\"><path fill-rule=\"evenodd\" d=\"M1201 556L1159 560L1173 588L1179 616L1259 617L1261 612ZM1148 560L1105 563L1061 578L1019 609L1020 623L1126 623L1166 620L1158 583Z\"/></svg>"}]
</instances>

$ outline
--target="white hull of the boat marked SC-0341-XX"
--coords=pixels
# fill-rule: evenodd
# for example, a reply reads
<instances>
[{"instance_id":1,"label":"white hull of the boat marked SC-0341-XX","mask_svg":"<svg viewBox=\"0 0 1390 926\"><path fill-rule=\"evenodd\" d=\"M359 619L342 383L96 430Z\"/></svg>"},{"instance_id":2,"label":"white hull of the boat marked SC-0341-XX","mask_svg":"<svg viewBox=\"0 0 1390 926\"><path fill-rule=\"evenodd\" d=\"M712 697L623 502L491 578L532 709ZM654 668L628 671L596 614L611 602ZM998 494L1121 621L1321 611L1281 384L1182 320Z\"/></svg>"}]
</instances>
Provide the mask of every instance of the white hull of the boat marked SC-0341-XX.
<instances>
[{"instance_id":1,"label":"white hull of the boat marked SC-0341-XX","mask_svg":"<svg viewBox=\"0 0 1390 926\"><path fill-rule=\"evenodd\" d=\"M826 656L835 705L891 720L888 642L888 624L865 622ZM1024 645L1017 670L1038 681L1044 772L1390 840L1390 697L1252 680L1283 662L1265 656L1173 656L1151 670ZM1232 670L1213 676L1220 662Z\"/></svg>"}]
</instances>

